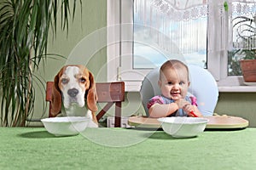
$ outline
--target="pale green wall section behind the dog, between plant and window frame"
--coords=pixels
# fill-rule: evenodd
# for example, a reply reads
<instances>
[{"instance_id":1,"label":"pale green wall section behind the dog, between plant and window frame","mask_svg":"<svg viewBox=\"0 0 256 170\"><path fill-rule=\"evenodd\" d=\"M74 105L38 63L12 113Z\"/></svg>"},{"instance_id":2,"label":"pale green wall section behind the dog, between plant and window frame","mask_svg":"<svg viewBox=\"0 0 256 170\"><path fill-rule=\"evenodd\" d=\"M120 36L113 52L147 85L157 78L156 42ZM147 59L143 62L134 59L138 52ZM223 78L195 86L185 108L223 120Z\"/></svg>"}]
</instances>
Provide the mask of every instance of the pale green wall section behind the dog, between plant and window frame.
<instances>
[{"instance_id":1,"label":"pale green wall section behind the dog, between plant and window frame","mask_svg":"<svg viewBox=\"0 0 256 170\"><path fill-rule=\"evenodd\" d=\"M107 26L107 1L106 0L83 0L82 1L82 14L80 13L80 6L76 9L74 20L70 21L68 34L67 31L61 31L59 27L55 37L49 35L48 54L59 54L63 57L56 55L49 56L44 63L39 65L38 71L35 72L35 77L39 81L34 82L36 88L35 109L32 114L33 120L38 120L41 117L48 116L48 105L44 102L45 99L45 84L48 81L53 81L57 72L63 65L66 64L82 64L86 65L89 70L95 75L97 82L107 81L106 63L107 63L107 50L106 45L98 48L99 42L106 42L107 36L105 28ZM99 32L100 31L100 32ZM84 44L84 40L88 40L94 36L93 40ZM96 37L96 38L95 38ZM76 47L79 44L84 44L83 49L79 53ZM106 44L106 43L105 43ZM89 54L86 49L94 49ZM73 49L76 49L73 51ZM77 59L69 57L69 55L79 53ZM68 62L67 62L68 60ZM30 122L30 125L37 124Z\"/></svg>"}]
</instances>

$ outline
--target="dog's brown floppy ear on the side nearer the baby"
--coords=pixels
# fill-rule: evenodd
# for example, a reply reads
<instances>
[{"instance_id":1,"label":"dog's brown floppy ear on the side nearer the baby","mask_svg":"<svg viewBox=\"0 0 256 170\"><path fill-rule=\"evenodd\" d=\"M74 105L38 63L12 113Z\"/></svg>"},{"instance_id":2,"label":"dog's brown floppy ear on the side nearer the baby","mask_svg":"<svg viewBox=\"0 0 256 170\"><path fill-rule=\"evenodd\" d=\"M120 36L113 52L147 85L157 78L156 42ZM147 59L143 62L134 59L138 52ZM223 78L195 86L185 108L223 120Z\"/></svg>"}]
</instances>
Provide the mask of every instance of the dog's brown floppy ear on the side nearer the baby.
<instances>
[{"instance_id":1,"label":"dog's brown floppy ear on the side nearer the baby","mask_svg":"<svg viewBox=\"0 0 256 170\"><path fill-rule=\"evenodd\" d=\"M96 83L94 82L94 77L89 71L89 80L90 80L90 87L87 91L87 106L90 111L97 111L97 95L96 95Z\"/></svg>"}]
</instances>

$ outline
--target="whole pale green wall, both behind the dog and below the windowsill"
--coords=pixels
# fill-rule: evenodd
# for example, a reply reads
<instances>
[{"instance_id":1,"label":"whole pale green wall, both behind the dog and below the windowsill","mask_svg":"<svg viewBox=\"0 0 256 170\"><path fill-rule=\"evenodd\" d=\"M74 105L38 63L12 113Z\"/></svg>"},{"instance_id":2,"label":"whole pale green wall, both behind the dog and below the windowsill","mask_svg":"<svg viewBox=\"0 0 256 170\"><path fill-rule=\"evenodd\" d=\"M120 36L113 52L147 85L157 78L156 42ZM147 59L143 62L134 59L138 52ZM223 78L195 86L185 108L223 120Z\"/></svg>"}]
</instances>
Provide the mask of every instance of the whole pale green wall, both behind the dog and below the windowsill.
<instances>
[{"instance_id":1,"label":"whole pale green wall, both behind the dog and below the windowsill","mask_svg":"<svg viewBox=\"0 0 256 170\"><path fill-rule=\"evenodd\" d=\"M49 53L61 54L68 58L69 54L73 52L78 44L83 44L91 36L89 43L84 43L84 48L76 48L73 54L78 55L78 61L92 71L96 77L96 82L106 82L107 79L107 50L106 47L98 45L99 43L106 42L107 26L107 1L106 0L86 0L83 1L83 14L77 14L75 20L70 22L68 36L66 32L58 30L56 38L52 37L49 41ZM86 39L87 38L87 39ZM95 48L89 54L84 49L90 50ZM69 63L72 62L69 61ZM40 65L40 69L36 75L44 82L53 81L55 74L61 69L61 66L67 64L67 59L55 57L54 59L47 59L44 65ZM44 84L45 86L45 84ZM48 115L48 106L44 105L45 93L44 86L38 85L36 89L36 103L33 118L38 119ZM138 93L127 93L126 101L123 104L122 113L125 116L131 115L144 115L143 106L140 101ZM241 116L249 120L251 127L256 127L256 92L255 93L220 93L218 105L215 112L218 114L227 114L231 116ZM113 109L109 112L113 114ZM32 125L32 123L31 123Z\"/></svg>"}]
</instances>

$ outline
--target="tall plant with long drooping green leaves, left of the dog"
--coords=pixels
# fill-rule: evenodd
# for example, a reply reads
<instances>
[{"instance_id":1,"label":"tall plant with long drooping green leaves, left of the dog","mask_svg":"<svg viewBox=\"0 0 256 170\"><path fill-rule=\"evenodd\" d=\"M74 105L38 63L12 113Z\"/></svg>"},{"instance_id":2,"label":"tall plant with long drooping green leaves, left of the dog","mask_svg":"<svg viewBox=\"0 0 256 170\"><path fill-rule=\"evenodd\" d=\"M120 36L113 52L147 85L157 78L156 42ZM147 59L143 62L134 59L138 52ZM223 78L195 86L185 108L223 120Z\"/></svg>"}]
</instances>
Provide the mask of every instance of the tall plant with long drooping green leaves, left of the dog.
<instances>
[{"instance_id":1,"label":"tall plant with long drooping green leaves, left of the dog","mask_svg":"<svg viewBox=\"0 0 256 170\"><path fill-rule=\"evenodd\" d=\"M75 7L76 0L73 11L68 0L0 2L0 126L26 125L34 106L33 71L47 58L49 30L55 35L61 19L61 28L67 31Z\"/></svg>"}]
</instances>

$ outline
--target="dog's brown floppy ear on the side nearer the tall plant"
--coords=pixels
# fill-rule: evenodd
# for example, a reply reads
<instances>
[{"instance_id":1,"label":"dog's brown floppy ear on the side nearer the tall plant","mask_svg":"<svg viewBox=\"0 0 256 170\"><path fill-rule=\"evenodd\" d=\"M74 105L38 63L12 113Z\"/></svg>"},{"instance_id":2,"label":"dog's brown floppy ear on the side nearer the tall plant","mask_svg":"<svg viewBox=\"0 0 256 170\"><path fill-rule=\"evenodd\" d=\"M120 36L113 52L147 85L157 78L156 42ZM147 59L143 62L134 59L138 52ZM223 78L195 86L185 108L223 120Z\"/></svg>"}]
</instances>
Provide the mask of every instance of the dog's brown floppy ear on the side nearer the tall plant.
<instances>
[{"instance_id":1,"label":"dog's brown floppy ear on the side nearer the tall plant","mask_svg":"<svg viewBox=\"0 0 256 170\"><path fill-rule=\"evenodd\" d=\"M56 116L58 113L61 112L61 89L59 88L59 75L60 72L55 76L55 82L52 87L52 94L51 94L51 114L52 116Z\"/></svg>"}]
</instances>

